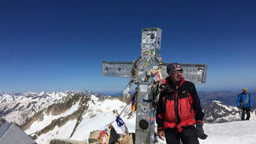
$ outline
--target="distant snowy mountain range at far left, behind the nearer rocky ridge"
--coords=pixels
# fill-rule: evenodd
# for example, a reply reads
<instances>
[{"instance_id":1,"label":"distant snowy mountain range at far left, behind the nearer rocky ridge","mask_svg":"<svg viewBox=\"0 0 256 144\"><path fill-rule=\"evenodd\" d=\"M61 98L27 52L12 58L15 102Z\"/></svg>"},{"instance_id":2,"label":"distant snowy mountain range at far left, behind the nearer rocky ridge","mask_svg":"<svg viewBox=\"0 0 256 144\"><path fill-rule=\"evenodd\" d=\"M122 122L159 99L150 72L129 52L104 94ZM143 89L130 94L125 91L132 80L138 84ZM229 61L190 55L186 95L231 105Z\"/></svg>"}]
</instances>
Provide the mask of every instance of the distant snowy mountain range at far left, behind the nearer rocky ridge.
<instances>
[{"instance_id":1,"label":"distant snowy mountain range at far left, behind the nearer rocky ridge","mask_svg":"<svg viewBox=\"0 0 256 144\"><path fill-rule=\"evenodd\" d=\"M72 92L21 92L4 93L0 92L0 120L24 124L27 119L41 111L45 107L58 103L67 95L91 94L90 91L72 91ZM98 94L99 97L103 97Z\"/></svg>"}]
</instances>

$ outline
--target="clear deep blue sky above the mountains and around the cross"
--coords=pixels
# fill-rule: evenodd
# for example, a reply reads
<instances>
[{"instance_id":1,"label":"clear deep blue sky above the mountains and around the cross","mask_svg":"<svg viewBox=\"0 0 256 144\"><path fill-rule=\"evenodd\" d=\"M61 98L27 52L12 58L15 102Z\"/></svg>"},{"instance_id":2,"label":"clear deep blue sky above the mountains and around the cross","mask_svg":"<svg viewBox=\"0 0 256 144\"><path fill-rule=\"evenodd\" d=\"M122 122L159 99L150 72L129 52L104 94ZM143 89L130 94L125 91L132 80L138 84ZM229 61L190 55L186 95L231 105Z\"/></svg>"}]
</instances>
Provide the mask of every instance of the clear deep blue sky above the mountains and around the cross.
<instances>
[{"instance_id":1,"label":"clear deep blue sky above the mountains and around the cross","mask_svg":"<svg viewBox=\"0 0 256 144\"><path fill-rule=\"evenodd\" d=\"M120 92L103 61L140 56L162 29L163 62L208 64L197 91L256 91L256 1L0 1L0 92Z\"/></svg>"}]
</instances>

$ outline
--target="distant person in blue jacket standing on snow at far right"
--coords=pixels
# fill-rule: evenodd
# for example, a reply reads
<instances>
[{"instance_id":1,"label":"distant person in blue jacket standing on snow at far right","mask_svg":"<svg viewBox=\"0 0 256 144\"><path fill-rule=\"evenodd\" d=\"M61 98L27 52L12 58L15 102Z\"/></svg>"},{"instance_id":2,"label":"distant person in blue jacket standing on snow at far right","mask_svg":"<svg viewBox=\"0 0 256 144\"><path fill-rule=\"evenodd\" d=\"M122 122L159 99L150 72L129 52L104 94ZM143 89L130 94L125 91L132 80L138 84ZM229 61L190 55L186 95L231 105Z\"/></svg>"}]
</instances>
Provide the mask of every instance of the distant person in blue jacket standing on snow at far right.
<instances>
[{"instance_id":1,"label":"distant person in blue jacket standing on snow at far right","mask_svg":"<svg viewBox=\"0 0 256 144\"><path fill-rule=\"evenodd\" d=\"M244 121L244 115L247 114L246 120L251 117L250 111L252 110L252 97L247 92L247 88L243 88L243 92L237 95L236 103L238 108L242 110L241 120Z\"/></svg>"}]
</instances>

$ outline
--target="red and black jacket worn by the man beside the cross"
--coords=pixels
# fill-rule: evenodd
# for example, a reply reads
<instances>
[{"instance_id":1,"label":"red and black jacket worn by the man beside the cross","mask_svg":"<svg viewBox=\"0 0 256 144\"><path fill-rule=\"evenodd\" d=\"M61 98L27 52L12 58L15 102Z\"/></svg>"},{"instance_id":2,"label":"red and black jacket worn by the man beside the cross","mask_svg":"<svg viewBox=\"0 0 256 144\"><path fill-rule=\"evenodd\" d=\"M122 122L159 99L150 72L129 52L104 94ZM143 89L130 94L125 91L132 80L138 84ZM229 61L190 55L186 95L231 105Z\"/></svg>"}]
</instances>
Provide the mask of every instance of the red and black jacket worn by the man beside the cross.
<instances>
[{"instance_id":1,"label":"red and black jacket worn by the man beside the cross","mask_svg":"<svg viewBox=\"0 0 256 144\"><path fill-rule=\"evenodd\" d=\"M181 131L187 125L203 122L204 113L194 83L183 78L176 87L172 85L170 77L167 77L160 88L162 91L156 108L158 133L168 128L178 128Z\"/></svg>"}]
</instances>

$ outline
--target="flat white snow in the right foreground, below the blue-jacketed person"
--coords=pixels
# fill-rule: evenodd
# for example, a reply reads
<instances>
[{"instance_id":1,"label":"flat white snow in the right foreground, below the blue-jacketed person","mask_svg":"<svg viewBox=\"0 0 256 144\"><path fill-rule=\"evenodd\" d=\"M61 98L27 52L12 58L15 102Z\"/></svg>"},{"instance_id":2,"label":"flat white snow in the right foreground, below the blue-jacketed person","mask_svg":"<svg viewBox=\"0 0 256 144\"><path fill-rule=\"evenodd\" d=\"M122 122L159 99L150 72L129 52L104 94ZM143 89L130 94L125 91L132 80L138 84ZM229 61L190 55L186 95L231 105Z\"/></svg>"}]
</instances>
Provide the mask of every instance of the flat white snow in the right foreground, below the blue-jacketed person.
<instances>
[{"instance_id":1,"label":"flat white snow in the right foreground, below the blue-jacketed person","mask_svg":"<svg viewBox=\"0 0 256 144\"><path fill-rule=\"evenodd\" d=\"M201 144L255 144L256 121L234 121L217 124L204 124L204 133L208 135L206 140L199 139ZM159 144L165 144L160 140Z\"/></svg>"}]
</instances>

